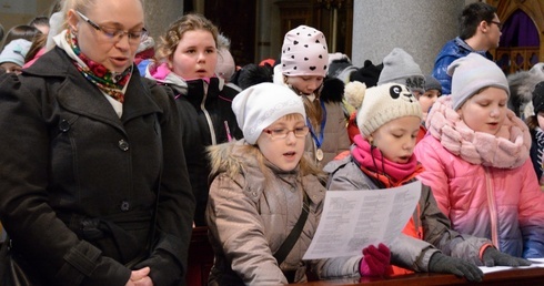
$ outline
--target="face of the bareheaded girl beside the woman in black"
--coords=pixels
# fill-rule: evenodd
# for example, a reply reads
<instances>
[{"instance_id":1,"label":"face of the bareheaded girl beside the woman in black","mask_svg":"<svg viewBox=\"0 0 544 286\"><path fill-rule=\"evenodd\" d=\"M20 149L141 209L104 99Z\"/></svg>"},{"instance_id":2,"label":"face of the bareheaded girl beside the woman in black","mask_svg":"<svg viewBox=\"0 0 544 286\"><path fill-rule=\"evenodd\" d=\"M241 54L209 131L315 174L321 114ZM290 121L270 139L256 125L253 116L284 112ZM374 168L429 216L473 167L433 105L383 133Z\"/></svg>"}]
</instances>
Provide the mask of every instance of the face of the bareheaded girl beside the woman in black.
<instances>
[{"instance_id":1,"label":"face of the bareheaded girl beside the woman in black","mask_svg":"<svg viewBox=\"0 0 544 286\"><path fill-rule=\"evenodd\" d=\"M206 30L183 33L170 62L171 70L185 80L211 78L215 72L215 40Z\"/></svg>"}]
</instances>

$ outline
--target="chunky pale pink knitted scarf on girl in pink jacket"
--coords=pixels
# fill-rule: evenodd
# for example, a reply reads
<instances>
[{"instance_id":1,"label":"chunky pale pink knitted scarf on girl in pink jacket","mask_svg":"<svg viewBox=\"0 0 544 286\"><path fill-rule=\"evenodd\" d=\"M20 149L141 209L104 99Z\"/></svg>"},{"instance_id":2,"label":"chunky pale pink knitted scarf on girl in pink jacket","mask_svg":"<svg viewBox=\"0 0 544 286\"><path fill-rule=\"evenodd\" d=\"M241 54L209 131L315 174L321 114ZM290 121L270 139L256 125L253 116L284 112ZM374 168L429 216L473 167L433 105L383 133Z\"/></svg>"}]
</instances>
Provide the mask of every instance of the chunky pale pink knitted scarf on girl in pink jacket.
<instances>
[{"instance_id":1,"label":"chunky pale pink knitted scarf on girl in pink jacket","mask_svg":"<svg viewBox=\"0 0 544 286\"><path fill-rule=\"evenodd\" d=\"M478 55L480 57L480 55ZM452 108L452 96L441 96L425 121L431 135L450 153L464 161L484 166L515 168L530 155L531 134L525 123L507 110L501 136L469 127Z\"/></svg>"}]
</instances>

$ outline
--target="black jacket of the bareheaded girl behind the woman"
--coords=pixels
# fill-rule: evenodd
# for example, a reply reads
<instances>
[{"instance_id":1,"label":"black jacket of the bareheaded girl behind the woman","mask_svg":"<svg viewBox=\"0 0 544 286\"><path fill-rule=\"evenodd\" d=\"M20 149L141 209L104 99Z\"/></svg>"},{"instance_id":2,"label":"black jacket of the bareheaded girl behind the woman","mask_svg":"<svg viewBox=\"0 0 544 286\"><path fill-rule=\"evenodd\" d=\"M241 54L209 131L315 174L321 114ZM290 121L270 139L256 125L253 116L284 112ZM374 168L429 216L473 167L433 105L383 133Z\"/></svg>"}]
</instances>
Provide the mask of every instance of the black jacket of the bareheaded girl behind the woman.
<instances>
[{"instance_id":1,"label":"black jacket of the bareheaded girl behind the woman","mask_svg":"<svg viewBox=\"0 0 544 286\"><path fill-rule=\"evenodd\" d=\"M197 198L194 224L203 226L205 225L204 214L210 175L205 147L228 142L229 135L231 139L242 139L243 134L231 108L238 90L223 85L222 80L218 78L211 78L209 84L200 79L185 83L187 89L179 89L173 84L165 86L175 99L181 119L180 133L185 151L189 178ZM228 134L228 129L230 134Z\"/></svg>"}]
</instances>

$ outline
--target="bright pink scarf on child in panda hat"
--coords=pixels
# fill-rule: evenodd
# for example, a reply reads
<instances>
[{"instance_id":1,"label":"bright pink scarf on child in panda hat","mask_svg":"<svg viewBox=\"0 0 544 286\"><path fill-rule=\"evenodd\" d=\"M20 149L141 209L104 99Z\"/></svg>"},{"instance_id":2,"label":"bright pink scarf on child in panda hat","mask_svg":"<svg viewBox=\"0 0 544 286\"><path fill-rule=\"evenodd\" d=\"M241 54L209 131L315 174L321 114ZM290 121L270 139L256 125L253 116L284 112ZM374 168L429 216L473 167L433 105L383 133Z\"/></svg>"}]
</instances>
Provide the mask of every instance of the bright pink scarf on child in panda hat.
<instances>
[{"instance_id":1,"label":"bright pink scarf on child in panda hat","mask_svg":"<svg viewBox=\"0 0 544 286\"><path fill-rule=\"evenodd\" d=\"M407 163L395 163L383 157L382 151L372 147L361 134L355 135L353 141L355 143L351 151L353 159L359 162L362 171L370 171L374 178L385 184L385 187L397 186L423 171L414 154Z\"/></svg>"}]
</instances>

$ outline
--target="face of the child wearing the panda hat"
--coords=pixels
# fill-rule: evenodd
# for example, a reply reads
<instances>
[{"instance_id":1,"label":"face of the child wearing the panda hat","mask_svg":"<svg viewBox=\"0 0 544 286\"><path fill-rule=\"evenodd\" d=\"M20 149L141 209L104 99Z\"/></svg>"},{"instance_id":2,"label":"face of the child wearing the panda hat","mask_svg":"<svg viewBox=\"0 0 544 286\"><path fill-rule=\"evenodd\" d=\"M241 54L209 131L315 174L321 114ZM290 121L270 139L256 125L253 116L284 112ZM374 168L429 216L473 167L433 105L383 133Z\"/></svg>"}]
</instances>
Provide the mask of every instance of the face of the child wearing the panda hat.
<instances>
[{"instance_id":1,"label":"face of the child wearing the panda hat","mask_svg":"<svg viewBox=\"0 0 544 286\"><path fill-rule=\"evenodd\" d=\"M369 142L380 149L389 161L407 163L414 153L420 124L421 120L417 116L402 116L392 120L374 131Z\"/></svg>"}]
</instances>

